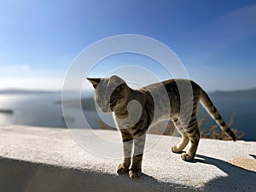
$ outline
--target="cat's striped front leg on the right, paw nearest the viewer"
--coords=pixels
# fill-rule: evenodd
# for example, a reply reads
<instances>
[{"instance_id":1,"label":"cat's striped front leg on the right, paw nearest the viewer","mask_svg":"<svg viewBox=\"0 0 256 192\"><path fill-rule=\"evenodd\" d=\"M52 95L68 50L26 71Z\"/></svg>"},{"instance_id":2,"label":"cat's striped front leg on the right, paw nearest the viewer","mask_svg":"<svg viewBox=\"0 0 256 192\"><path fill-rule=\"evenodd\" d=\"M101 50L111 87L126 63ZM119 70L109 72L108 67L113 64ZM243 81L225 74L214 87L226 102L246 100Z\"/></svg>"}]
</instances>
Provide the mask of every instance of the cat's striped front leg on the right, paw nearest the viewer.
<instances>
[{"instance_id":1,"label":"cat's striped front leg on the right, paw nearest the viewer","mask_svg":"<svg viewBox=\"0 0 256 192\"><path fill-rule=\"evenodd\" d=\"M146 134L134 139L134 154L132 157L132 165L129 172L131 178L142 176L143 151L145 146Z\"/></svg>"}]
</instances>

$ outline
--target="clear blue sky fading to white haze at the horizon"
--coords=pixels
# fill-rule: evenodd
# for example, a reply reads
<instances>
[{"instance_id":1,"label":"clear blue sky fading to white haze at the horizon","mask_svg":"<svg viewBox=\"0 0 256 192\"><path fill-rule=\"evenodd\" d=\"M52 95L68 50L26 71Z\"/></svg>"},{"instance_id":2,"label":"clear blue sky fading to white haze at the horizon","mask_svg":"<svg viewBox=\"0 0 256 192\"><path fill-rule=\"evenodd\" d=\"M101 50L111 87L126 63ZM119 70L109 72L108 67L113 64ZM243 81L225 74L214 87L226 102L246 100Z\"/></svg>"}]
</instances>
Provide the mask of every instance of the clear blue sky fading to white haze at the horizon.
<instances>
[{"instance_id":1,"label":"clear blue sky fading to white haze at the horizon","mask_svg":"<svg viewBox=\"0 0 256 192\"><path fill-rule=\"evenodd\" d=\"M254 88L255 18L253 0L1 0L0 89L61 90L81 50L119 34L160 40L206 90Z\"/></svg>"}]
</instances>

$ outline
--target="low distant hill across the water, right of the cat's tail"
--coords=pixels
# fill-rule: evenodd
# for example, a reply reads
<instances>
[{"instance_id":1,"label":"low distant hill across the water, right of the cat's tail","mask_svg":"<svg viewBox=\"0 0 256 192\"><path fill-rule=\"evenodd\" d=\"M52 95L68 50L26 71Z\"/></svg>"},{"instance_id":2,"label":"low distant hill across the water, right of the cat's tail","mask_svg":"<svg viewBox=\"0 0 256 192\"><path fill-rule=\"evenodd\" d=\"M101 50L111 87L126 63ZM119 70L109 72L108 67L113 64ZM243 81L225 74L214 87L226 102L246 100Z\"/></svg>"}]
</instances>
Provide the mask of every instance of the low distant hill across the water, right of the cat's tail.
<instances>
[{"instance_id":1,"label":"low distant hill across the water, right of the cat's tail","mask_svg":"<svg viewBox=\"0 0 256 192\"><path fill-rule=\"evenodd\" d=\"M210 94L211 96L250 96L256 97L256 88L250 90L217 90Z\"/></svg>"}]
</instances>

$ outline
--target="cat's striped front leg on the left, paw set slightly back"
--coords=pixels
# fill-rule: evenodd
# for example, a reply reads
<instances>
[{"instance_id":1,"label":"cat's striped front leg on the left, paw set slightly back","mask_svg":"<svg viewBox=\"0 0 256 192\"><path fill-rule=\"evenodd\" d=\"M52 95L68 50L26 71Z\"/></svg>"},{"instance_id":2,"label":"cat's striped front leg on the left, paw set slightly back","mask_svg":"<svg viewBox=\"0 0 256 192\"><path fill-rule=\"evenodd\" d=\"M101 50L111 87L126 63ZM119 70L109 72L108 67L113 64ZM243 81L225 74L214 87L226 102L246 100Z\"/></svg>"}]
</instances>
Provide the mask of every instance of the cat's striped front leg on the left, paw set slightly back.
<instances>
[{"instance_id":1,"label":"cat's striped front leg on the left, paw set slightly back","mask_svg":"<svg viewBox=\"0 0 256 192\"><path fill-rule=\"evenodd\" d=\"M117 167L117 173L119 175L123 175L129 172L129 167L131 165L131 151L132 151L132 142L133 137L128 131L120 130L122 134L123 140L123 152L124 152L124 161L123 163L119 164Z\"/></svg>"}]
</instances>

